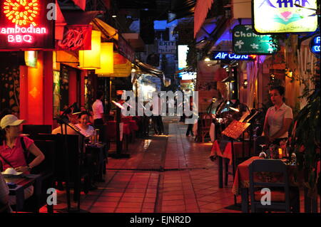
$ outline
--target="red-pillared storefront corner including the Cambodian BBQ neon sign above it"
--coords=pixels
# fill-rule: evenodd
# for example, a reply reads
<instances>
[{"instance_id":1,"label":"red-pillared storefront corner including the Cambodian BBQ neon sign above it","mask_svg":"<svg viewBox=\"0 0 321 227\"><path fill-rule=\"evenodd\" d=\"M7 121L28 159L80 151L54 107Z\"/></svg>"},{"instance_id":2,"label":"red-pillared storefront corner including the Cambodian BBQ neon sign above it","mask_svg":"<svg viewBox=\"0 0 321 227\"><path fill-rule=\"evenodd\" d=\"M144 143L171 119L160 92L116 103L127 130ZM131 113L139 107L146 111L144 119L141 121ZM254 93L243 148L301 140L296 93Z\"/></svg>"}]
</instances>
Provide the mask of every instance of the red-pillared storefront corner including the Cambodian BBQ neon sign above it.
<instances>
[{"instance_id":1,"label":"red-pillared storefront corner including the Cambodian BBQ neon sign above it","mask_svg":"<svg viewBox=\"0 0 321 227\"><path fill-rule=\"evenodd\" d=\"M55 21L48 15L54 3L32 1L29 9L0 4L1 110L13 110L28 124L52 124Z\"/></svg>"}]
</instances>

